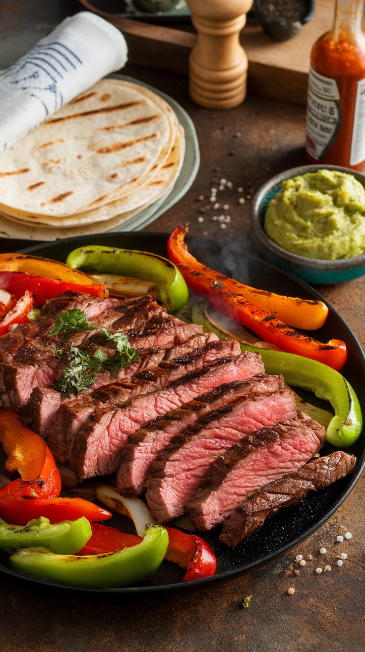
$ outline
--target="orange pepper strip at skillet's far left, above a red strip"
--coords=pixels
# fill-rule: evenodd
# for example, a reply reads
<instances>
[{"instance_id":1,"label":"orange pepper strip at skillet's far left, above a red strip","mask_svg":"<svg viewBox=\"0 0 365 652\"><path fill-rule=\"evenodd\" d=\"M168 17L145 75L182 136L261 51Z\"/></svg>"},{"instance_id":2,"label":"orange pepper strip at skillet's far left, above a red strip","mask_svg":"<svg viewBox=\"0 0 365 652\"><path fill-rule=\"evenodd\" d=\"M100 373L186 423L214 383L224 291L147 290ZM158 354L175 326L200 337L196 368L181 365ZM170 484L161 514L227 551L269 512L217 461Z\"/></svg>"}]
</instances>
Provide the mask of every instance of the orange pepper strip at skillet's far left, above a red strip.
<instances>
[{"instance_id":1,"label":"orange pepper strip at skillet's far left, above a red strip","mask_svg":"<svg viewBox=\"0 0 365 652\"><path fill-rule=\"evenodd\" d=\"M77 269L72 269L68 265L64 265L64 263L59 263L49 258L40 258L40 256L0 254L0 271L23 272L32 274L33 276L49 278L50 280L62 281L64 284L70 284L71 286L82 286L84 293L97 295L101 298L107 297L109 293L107 286L90 282L90 277L87 274L79 272ZM4 287L3 289L7 288ZM72 288L67 289L77 291ZM66 290L62 289L61 291L64 292Z\"/></svg>"}]
</instances>

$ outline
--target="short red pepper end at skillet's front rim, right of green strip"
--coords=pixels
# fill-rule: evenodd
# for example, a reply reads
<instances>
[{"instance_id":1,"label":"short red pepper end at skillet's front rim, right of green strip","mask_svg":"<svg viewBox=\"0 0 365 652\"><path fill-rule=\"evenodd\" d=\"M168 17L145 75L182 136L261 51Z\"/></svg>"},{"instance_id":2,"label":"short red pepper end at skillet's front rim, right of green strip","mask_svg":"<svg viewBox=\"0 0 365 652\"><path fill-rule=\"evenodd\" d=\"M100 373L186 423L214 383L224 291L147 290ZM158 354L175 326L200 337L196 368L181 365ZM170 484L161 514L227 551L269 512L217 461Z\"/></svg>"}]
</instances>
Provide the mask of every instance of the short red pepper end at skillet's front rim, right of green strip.
<instances>
[{"instance_id":1,"label":"short red pepper end at skillet's front rim, right of green strip","mask_svg":"<svg viewBox=\"0 0 365 652\"><path fill-rule=\"evenodd\" d=\"M193 582L215 573L217 560L208 543L194 534L185 534L175 527L167 527L169 546L165 559L187 569L183 582Z\"/></svg>"}]
</instances>

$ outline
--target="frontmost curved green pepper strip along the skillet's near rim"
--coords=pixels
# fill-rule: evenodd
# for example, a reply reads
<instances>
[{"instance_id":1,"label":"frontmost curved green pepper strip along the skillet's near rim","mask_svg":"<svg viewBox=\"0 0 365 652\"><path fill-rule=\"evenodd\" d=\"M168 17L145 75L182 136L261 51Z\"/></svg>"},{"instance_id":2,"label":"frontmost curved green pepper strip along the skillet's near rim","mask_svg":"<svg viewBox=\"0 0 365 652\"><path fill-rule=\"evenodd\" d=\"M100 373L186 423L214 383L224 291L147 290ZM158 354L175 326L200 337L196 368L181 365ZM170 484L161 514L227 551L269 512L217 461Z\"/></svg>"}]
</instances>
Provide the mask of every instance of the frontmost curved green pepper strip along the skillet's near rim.
<instances>
[{"instance_id":1,"label":"frontmost curved green pepper strip along the skillet's near rim","mask_svg":"<svg viewBox=\"0 0 365 652\"><path fill-rule=\"evenodd\" d=\"M165 557L169 535L162 526L150 526L137 546L98 555L55 555L47 548L17 550L10 563L14 571L75 586L115 587L142 582L154 574Z\"/></svg>"}]
</instances>

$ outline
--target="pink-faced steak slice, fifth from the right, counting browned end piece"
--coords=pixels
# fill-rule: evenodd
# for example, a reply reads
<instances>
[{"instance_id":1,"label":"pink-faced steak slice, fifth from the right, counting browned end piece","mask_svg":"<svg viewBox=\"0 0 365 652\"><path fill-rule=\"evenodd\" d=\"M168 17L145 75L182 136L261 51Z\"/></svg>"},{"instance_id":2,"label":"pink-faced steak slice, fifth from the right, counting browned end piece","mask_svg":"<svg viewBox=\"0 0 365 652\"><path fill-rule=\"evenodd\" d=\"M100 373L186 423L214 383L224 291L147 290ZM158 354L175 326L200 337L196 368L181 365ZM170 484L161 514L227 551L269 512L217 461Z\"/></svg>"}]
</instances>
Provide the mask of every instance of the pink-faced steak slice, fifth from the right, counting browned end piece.
<instances>
[{"instance_id":1,"label":"pink-faced steak slice, fifth from the right, counting browned end piece","mask_svg":"<svg viewBox=\"0 0 365 652\"><path fill-rule=\"evenodd\" d=\"M75 437L70 468L75 471L79 481L115 473L129 435L148 421L180 408L183 403L221 385L223 381L243 380L263 372L264 365L257 353L225 356L185 374L162 391L138 396L121 408L94 411Z\"/></svg>"}]
</instances>

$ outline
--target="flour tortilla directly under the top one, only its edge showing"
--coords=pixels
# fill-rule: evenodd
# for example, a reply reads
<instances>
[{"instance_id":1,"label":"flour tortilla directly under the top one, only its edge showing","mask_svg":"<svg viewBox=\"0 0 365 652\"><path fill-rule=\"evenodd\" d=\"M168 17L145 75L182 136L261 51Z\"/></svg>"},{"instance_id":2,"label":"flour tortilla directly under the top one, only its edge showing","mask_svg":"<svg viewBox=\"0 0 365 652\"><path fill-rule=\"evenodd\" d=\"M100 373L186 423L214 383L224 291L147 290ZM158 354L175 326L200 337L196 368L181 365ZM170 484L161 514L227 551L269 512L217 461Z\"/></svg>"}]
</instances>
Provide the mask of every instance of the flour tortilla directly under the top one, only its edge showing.
<instances>
[{"instance_id":1,"label":"flour tortilla directly under the top one, only its edge showing","mask_svg":"<svg viewBox=\"0 0 365 652\"><path fill-rule=\"evenodd\" d=\"M32 224L35 227L50 226L68 228L71 226L81 226L81 224L95 224L96 222L110 220L113 217L122 216L124 213L135 211L137 208L141 211L141 207L146 207L154 201L157 201L157 199L165 195L172 188L180 173L184 154L185 136L182 126L179 125L176 130L174 146L165 164L160 170L155 171L154 177L146 185L120 200L113 201L93 211L86 211L85 213L77 213L76 215L66 217L27 215L27 213L20 213L11 209L5 211L2 207L0 213L3 216L7 216L10 220L19 222L25 226Z\"/></svg>"}]
</instances>

